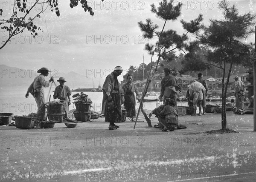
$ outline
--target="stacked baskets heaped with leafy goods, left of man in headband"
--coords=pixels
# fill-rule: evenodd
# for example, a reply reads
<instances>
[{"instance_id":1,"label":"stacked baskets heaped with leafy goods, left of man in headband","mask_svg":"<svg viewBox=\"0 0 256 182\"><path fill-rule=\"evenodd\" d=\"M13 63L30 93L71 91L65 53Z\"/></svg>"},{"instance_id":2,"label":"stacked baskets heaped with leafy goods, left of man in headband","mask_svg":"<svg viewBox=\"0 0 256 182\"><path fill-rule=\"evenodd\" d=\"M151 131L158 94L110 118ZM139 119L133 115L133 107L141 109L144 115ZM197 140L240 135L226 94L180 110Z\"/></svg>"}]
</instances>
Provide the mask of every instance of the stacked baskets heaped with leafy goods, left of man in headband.
<instances>
[{"instance_id":1,"label":"stacked baskets heaped with leafy goods, left of man in headband","mask_svg":"<svg viewBox=\"0 0 256 182\"><path fill-rule=\"evenodd\" d=\"M77 121L87 122L90 121L92 111L90 111L91 104L93 103L87 94L81 92L72 96L75 100L73 103L76 106L76 111L73 112Z\"/></svg>"}]
</instances>

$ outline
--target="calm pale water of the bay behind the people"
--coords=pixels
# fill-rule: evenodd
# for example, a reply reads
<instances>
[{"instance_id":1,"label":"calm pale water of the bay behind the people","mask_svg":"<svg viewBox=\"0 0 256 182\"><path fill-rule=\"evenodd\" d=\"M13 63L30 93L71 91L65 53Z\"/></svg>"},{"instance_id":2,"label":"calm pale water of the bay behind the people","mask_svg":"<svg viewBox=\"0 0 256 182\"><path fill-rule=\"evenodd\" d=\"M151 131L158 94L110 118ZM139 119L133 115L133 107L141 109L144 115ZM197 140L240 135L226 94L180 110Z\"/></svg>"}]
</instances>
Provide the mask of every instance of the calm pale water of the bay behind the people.
<instances>
[{"instance_id":1,"label":"calm pale water of the bay behind the people","mask_svg":"<svg viewBox=\"0 0 256 182\"><path fill-rule=\"evenodd\" d=\"M51 90L49 88L44 88L45 100L49 100L49 95L51 95L51 100L53 100L53 92L55 86L52 86ZM29 94L29 98L25 98L27 87L1 87L0 88L0 112L10 112L15 115L27 115L32 112L37 111L37 106L34 97ZM76 94L79 92L72 92ZM86 92L88 97L93 101L91 110L96 112L101 112L102 107L102 92ZM72 98L73 99L73 98ZM73 100L74 101L74 100ZM136 108L139 108L140 103L137 103ZM178 102L178 105L187 106L186 102ZM156 107L156 102L144 102L144 109L152 110ZM74 109L73 103L70 105L70 110Z\"/></svg>"}]
</instances>

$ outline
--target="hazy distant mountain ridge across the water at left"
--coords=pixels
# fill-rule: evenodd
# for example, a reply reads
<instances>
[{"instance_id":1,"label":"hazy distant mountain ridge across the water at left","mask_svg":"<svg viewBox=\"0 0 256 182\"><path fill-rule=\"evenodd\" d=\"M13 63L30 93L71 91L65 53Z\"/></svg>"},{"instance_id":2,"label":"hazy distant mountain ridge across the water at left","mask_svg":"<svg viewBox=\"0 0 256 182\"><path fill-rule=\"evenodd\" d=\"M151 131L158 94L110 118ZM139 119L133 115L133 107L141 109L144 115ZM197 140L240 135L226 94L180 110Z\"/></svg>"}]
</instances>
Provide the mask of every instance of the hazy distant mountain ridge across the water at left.
<instances>
[{"instance_id":1,"label":"hazy distant mountain ridge across the water at left","mask_svg":"<svg viewBox=\"0 0 256 182\"><path fill-rule=\"evenodd\" d=\"M39 75L37 70L32 69L20 69L15 67L10 67L7 65L0 65L1 75L0 75L0 86L29 86L36 76ZM53 76L55 78L55 82L58 85L58 78L64 77L67 80L66 85L70 87L70 89L76 88L93 88L93 80L95 88L98 88L99 78L86 77L82 74L78 74L74 71L69 73L61 73L58 70L52 70L50 72L47 80ZM104 80L101 78L101 85Z\"/></svg>"}]
</instances>

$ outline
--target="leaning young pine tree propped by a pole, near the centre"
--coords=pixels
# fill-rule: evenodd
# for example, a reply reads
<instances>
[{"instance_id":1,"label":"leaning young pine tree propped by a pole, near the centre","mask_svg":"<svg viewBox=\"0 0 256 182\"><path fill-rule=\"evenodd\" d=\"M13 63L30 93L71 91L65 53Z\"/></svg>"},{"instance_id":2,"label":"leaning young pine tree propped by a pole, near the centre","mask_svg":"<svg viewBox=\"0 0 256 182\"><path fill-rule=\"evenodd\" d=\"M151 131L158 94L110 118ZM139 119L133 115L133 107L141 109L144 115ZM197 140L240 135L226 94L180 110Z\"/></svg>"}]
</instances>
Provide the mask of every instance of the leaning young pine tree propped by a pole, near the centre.
<instances>
[{"instance_id":1,"label":"leaning young pine tree propped by a pole, near the centre","mask_svg":"<svg viewBox=\"0 0 256 182\"><path fill-rule=\"evenodd\" d=\"M140 101L137 118L139 116L140 109L143 112L143 98L145 97L148 86L150 85L150 82L157 71L160 59L164 59L166 54L175 49L184 52L184 50L189 47L189 45L185 43L185 41L188 40L187 34L198 33L201 28L201 21L203 20L203 15L199 14L199 16L195 18L195 20L191 20L190 22L185 22L184 20L180 21L180 23L182 23L183 29L185 30L185 33L182 35L177 34L177 32L172 29L165 30L166 23L169 23L169 21L177 20L177 18L181 15L182 3L178 3L176 6L174 6L173 2L174 0L170 0L169 2L167 2L167 0L163 0L159 3L158 7L156 7L154 4L151 5L151 12L154 13L157 18L160 18L164 21L163 28L160 31L157 31L157 28L159 28L159 26L157 24L153 24L153 21L150 18L146 19L145 23L143 23L142 21L138 22L140 30L143 33L143 37L147 38L148 40L156 40L156 42L153 44L146 43L144 49L145 51L148 51L149 55L151 55L151 63L154 55L157 56L157 62L154 65L154 68L151 64L151 68L147 77L147 83L145 85L145 90ZM148 119L145 112L143 112L143 115L148 122L148 126L151 126L150 119Z\"/></svg>"}]
</instances>

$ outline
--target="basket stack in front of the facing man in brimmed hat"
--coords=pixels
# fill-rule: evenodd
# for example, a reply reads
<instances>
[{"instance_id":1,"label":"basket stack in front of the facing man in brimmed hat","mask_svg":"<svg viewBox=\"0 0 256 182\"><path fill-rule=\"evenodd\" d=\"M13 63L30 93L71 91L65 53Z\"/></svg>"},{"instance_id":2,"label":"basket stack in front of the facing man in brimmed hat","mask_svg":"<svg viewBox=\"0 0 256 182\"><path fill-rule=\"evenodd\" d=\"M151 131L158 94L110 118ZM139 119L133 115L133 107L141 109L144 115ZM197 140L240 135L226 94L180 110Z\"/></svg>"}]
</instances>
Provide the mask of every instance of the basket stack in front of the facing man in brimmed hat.
<instances>
[{"instance_id":1,"label":"basket stack in front of the facing man in brimmed hat","mask_svg":"<svg viewBox=\"0 0 256 182\"><path fill-rule=\"evenodd\" d=\"M64 115L64 102L47 105L47 117L50 121L61 123Z\"/></svg>"}]
</instances>

